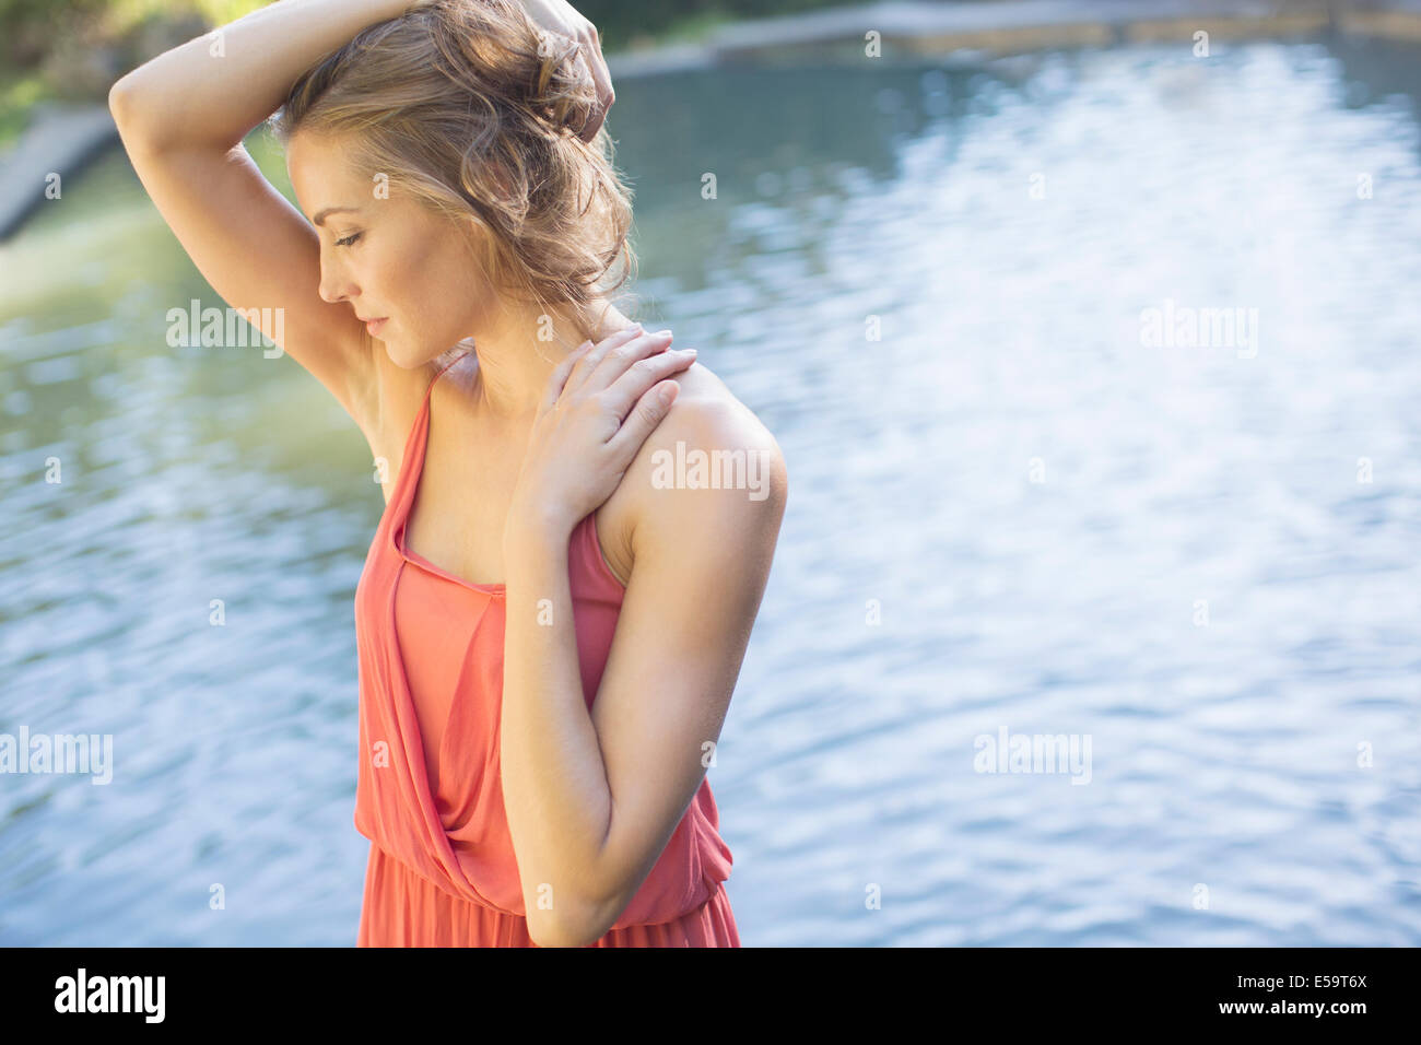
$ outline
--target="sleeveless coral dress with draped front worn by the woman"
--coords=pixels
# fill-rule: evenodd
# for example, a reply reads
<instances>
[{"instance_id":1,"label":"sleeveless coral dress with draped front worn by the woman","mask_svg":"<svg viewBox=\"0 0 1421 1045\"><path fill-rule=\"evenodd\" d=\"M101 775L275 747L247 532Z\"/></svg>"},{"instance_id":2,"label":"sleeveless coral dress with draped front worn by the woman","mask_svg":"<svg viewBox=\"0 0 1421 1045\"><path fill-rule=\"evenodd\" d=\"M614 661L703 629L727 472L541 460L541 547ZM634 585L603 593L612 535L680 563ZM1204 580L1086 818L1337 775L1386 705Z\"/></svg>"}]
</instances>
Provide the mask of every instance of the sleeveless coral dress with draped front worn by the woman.
<instances>
[{"instance_id":1,"label":"sleeveless coral dress with draped front worn by the woman","mask_svg":"<svg viewBox=\"0 0 1421 1045\"><path fill-rule=\"evenodd\" d=\"M371 840L358 947L536 945L499 779L504 590L405 550L431 392L452 365L425 391L355 589L355 829ZM624 594L603 557L595 512L573 530L567 564L591 709ZM588 945L739 947L723 884L730 863L702 781L621 918Z\"/></svg>"}]
</instances>

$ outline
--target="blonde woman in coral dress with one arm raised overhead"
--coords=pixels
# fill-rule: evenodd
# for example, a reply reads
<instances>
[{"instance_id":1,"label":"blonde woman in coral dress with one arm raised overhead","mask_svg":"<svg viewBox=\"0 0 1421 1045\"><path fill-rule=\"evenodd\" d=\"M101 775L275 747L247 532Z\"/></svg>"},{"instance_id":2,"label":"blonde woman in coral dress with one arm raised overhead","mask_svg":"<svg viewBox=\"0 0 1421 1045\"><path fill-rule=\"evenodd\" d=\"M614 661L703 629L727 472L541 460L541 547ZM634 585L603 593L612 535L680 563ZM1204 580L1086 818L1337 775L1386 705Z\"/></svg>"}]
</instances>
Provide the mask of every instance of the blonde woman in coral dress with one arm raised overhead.
<instances>
[{"instance_id":1,"label":"blonde woman in coral dress with one arm raised overhead","mask_svg":"<svg viewBox=\"0 0 1421 1045\"><path fill-rule=\"evenodd\" d=\"M384 488L355 594L358 945L739 945L705 771L786 472L604 297L631 256L611 101L556 0L283 0L109 97L203 276L284 318L263 334ZM304 216L242 145L279 107ZM668 482L695 451L764 462L767 491Z\"/></svg>"}]
</instances>

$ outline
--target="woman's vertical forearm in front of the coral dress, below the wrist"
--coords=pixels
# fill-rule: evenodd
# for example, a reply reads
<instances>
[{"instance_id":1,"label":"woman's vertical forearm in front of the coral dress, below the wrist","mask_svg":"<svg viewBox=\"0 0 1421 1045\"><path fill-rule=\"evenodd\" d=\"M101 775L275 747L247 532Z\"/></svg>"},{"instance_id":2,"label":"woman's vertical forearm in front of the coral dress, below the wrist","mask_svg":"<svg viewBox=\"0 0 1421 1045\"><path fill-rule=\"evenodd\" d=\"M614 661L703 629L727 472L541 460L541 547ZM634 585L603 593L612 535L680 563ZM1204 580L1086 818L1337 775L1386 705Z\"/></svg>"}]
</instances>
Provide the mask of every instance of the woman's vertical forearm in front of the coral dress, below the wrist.
<instances>
[{"instance_id":1,"label":"woman's vertical forearm in front of the coral dress, below the wrist","mask_svg":"<svg viewBox=\"0 0 1421 1045\"><path fill-rule=\"evenodd\" d=\"M571 527L553 526L504 545L503 802L529 926L544 940L578 933L601 901L595 857L611 820L607 768L578 665L570 536ZM549 887L553 909L541 910Z\"/></svg>"}]
</instances>

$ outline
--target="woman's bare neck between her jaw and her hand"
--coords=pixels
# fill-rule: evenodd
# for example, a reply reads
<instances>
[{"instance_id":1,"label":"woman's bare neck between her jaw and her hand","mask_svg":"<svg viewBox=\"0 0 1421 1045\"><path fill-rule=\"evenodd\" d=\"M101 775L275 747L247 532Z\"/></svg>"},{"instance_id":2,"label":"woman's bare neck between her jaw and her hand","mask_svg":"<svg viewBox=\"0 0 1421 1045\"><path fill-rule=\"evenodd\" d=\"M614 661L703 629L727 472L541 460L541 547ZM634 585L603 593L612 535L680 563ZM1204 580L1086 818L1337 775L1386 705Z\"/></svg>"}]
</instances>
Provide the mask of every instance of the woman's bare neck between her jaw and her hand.
<instances>
[{"instance_id":1,"label":"woman's bare neck between her jaw and her hand","mask_svg":"<svg viewBox=\"0 0 1421 1045\"><path fill-rule=\"evenodd\" d=\"M479 375L475 404L500 422L533 424L557 364L584 341L603 341L631 326L611 304L595 300L583 321L567 307L504 309L475 336Z\"/></svg>"}]
</instances>

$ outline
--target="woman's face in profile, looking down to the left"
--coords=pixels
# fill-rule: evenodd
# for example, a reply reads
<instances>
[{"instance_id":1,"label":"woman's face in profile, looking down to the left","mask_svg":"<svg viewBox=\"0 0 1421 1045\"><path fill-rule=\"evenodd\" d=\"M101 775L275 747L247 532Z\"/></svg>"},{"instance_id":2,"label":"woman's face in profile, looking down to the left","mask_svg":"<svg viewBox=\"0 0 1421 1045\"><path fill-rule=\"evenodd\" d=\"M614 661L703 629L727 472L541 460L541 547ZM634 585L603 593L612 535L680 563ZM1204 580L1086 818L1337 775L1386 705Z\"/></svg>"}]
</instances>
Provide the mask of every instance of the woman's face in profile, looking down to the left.
<instances>
[{"instance_id":1,"label":"woman's face in profile, looking down to the left","mask_svg":"<svg viewBox=\"0 0 1421 1045\"><path fill-rule=\"evenodd\" d=\"M453 222L365 183L335 138L297 132L287 173L321 240L320 294L348 301L395 365L416 368L472 337L497 301ZM334 208L327 212L328 208Z\"/></svg>"}]
</instances>

